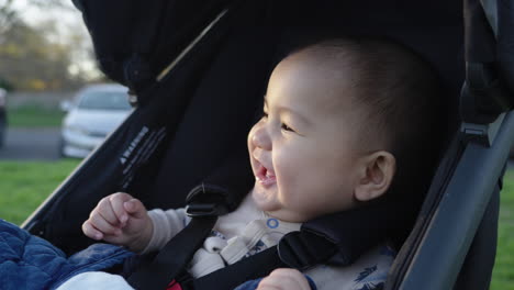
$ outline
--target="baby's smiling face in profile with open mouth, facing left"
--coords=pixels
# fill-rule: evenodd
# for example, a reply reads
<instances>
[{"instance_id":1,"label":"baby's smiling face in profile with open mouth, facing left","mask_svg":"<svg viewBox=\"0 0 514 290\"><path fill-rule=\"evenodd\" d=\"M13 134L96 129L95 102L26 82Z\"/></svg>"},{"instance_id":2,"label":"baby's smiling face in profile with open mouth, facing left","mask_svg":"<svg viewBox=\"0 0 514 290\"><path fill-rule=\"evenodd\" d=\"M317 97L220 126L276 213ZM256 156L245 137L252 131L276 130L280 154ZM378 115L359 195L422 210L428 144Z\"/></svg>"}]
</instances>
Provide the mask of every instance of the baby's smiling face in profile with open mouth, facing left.
<instances>
[{"instance_id":1,"label":"baby's smiling face in profile with open mouth, facing left","mask_svg":"<svg viewBox=\"0 0 514 290\"><path fill-rule=\"evenodd\" d=\"M358 112L349 98L342 99L344 87L304 62L287 59L273 70L265 115L248 134L259 209L304 222L355 205L362 148Z\"/></svg>"}]
</instances>

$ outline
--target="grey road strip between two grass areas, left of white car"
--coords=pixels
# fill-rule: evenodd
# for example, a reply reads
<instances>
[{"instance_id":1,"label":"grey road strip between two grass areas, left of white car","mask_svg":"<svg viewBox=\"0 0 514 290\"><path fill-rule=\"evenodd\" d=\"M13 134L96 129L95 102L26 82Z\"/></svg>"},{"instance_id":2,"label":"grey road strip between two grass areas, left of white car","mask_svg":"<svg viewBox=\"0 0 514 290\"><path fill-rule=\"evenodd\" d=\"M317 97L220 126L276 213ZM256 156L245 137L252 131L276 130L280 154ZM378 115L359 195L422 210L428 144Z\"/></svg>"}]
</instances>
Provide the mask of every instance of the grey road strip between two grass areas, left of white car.
<instances>
[{"instance_id":1,"label":"grey road strip between two grass areas, left of white car","mask_svg":"<svg viewBox=\"0 0 514 290\"><path fill-rule=\"evenodd\" d=\"M0 160L56 160L59 135L58 127L8 129Z\"/></svg>"}]
</instances>

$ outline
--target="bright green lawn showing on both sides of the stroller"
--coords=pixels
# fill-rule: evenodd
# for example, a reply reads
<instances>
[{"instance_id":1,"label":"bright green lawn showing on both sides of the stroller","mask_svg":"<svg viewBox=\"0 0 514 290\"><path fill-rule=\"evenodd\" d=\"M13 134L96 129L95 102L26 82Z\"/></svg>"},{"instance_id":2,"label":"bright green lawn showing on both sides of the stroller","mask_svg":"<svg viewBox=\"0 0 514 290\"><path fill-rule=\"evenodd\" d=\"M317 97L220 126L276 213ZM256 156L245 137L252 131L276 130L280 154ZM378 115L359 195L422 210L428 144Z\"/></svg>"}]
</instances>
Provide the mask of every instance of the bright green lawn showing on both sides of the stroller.
<instances>
[{"instance_id":1,"label":"bright green lawn showing on both sides of the stroller","mask_svg":"<svg viewBox=\"0 0 514 290\"><path fill-rule=\"evenodd\" d=\"M0 217L21 224L79 164L0 161ZM499 245L492 290L514 290L514 170L505 177L501 198Z\"/></svg>"}]
</instances>

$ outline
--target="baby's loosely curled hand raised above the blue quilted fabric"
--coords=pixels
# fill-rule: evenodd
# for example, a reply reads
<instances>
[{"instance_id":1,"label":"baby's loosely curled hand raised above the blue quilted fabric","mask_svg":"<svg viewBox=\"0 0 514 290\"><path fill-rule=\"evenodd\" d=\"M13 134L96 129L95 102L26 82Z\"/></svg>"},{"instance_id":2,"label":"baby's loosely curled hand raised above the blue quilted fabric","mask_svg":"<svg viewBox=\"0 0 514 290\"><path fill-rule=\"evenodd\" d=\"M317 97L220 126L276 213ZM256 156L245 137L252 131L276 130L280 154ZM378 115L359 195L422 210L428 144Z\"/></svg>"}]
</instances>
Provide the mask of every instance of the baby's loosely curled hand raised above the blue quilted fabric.
<instances>
[{"instance_id":1,"label":"baby's loosely curled hand raised above the blue quilted fabric","mask_svg":"<svg viewBox=\"0 0 514 290\"><path fill-rule=\"evenodd\" d=\"M93 239L143 250L153 233L145 205L127 193L113 193L100 200L82 224L82 232Z\"/></svg>"}]
</instances>

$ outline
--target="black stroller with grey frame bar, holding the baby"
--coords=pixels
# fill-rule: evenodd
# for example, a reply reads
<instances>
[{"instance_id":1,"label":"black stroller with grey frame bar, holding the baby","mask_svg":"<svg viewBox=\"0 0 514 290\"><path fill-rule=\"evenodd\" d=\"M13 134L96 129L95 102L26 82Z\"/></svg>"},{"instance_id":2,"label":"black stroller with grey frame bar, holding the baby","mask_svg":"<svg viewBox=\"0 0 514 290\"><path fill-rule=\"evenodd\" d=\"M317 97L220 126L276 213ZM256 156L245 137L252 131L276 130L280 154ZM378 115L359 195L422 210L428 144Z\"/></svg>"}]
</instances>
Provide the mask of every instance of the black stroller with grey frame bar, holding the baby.
<instances>
[{"instance_id":1,"label":"black stroller with grey frame bar, holding the baby","mask_svg":"<svg viewBox=\"0 0 514 290\"><path fill-rule=\"evenodd\" d=\"M178 208L200 182L216 187L212 194L189 196L193 215L235 209L242 197L234 192L252 183L246 160L239 161L273 65L320 31L387 35L438 68L451 91L451 121L448 132L433 136L448 145L427 177L432 185L414 225L401 225L409 235L400 238L384 289L489 287L499 192L514 143L514 1L74 2L102 70L131 88L137 109L25 221L25 230L71 254L92 243L80 224L101 198L127 191L147 208ZM351 217L359 216L345 220ZM391 226L388 219L362 222L383 233ZM281 263L303 268L351 260L369 246L358 243L368 233L351 228L347 241L339 234L343 220L327 224L309 224L283 243ZM311 250L320 244L329 250ZM192 285L247 279L252 275L241 270L247 267L227 267Z\"/></svg>"}]
</instances>

